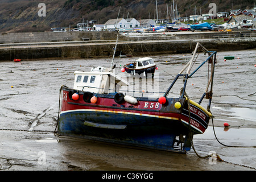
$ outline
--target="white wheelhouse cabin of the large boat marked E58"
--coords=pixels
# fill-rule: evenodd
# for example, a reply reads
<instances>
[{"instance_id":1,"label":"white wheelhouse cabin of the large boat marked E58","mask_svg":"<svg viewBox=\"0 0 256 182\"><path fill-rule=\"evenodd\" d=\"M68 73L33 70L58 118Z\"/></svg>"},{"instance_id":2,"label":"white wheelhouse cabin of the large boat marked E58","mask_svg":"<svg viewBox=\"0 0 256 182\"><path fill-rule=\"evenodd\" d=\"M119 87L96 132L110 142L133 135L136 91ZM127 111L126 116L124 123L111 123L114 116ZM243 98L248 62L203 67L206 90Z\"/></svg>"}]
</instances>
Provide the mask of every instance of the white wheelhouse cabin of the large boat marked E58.
<instances>
[{"instance_id":1,"label":"white wheelhouse cabin of the large boat marked E58","mask_svg":"<svg viewBox=\"0 0 256 182\"><path fill-rule=\"evenodd\" d=\"M101 68L100 70L104 70ZM73 89L93 93L115 93L119 92L121 86L129 83L112 72L80 72L75 71L75 82Z\"/></svg>"}]
</instances>

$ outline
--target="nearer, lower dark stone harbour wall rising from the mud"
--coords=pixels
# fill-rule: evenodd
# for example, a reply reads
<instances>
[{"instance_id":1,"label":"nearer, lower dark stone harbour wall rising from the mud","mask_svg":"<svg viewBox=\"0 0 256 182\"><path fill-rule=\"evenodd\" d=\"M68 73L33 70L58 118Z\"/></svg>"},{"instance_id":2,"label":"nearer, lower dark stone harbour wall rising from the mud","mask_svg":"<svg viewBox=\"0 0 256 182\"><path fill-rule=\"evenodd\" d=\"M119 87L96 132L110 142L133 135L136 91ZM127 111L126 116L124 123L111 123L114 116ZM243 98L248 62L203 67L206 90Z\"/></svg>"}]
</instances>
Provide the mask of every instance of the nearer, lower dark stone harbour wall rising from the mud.
<instances>
[{"instance_id":1,"label":"nearer, lower dark stone harbour wall rising from the mud","mask_svg":"<svg viewBox=\"0 0 256 182\"><path fill-rule=\"evenodd\" d=\"M52 33L58 33L58 36L60 36L59 33L65 32ZM74 35L79 35L79 33L80 32L76 32ZM119 56L120 54L133 56L150 56L172 53L190 53L195 48L197 42L203 44L203 46L210 51L236 51L241 49L256 48L255 36L204 39L192 39L191 36L189 36L181 39L178 39L177 37L175 39L163 39L162 35L163 34L155 36L155 38L158 37L157 40L134 40L138 39L138 37L133 39L131 36L119 36L119 42L115 56ZM207 34L207 36L209 36L209 34ZM0 60L88 59L97 57L109 57L113 55L113 48L115 46L115 39L117 37L116 32L106 32L106 34L93 34L92 32L90 40L78 40L81 37L86 38L85 35L80 34L80 37L77 36L77 40L72 41L59 42L60 40L57 40L56 42L41 41L30 43L3 43L0 44Z\"/></svg>"}]
</instances>

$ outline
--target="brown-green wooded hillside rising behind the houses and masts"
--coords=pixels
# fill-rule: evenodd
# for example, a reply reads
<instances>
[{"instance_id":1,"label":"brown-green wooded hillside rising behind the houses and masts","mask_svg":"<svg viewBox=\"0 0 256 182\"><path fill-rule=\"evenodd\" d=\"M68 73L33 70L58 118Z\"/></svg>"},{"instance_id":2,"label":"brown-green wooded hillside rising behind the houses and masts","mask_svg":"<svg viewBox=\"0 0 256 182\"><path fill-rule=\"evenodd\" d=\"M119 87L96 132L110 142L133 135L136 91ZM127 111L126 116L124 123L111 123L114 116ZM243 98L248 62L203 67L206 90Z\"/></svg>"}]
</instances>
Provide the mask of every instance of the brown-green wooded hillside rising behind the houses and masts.
<instances>
[{"instance_id":1,"label":"brown-green wooded hillside rising behind the houses and masts","mask_svg":"<svg viewBox=\"0 0 256 182\"><path fill-rule=\"evenodd\" d=\"M154 19L156 1L151 0L44 0L46 16L38 16L40 1L0 0L0 31L49 31L51 27L75 27L86 20L97 20L104 24L108 19L135 18ZM172 1L158 0L159 18L167 18L167 5L170 15ZM216 3L218 11L230 9L251 9L255 0L183 0L175 1L180 16L208 13L209 3ZM169 16L170 17L170 16Z\"/></svg>"}]
</instances>

